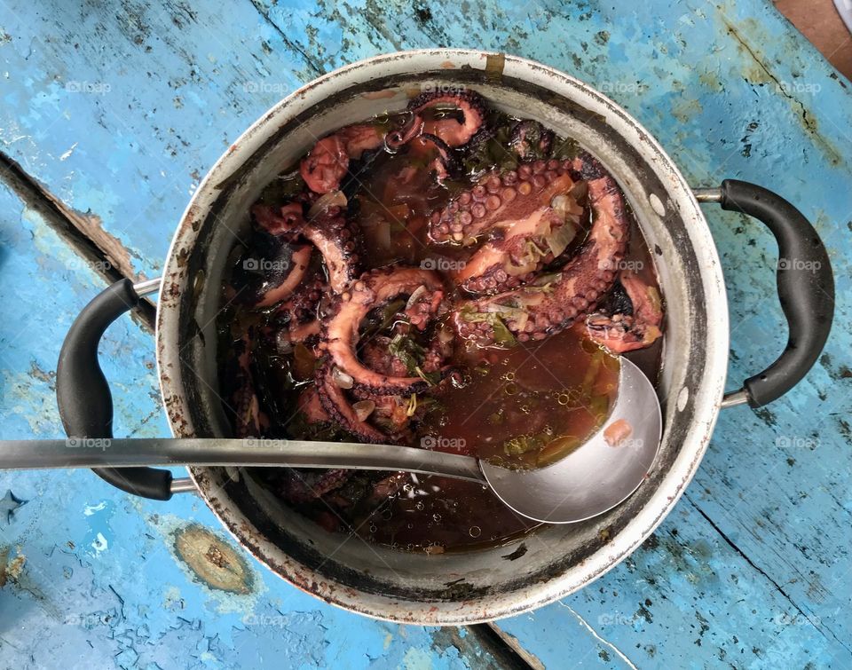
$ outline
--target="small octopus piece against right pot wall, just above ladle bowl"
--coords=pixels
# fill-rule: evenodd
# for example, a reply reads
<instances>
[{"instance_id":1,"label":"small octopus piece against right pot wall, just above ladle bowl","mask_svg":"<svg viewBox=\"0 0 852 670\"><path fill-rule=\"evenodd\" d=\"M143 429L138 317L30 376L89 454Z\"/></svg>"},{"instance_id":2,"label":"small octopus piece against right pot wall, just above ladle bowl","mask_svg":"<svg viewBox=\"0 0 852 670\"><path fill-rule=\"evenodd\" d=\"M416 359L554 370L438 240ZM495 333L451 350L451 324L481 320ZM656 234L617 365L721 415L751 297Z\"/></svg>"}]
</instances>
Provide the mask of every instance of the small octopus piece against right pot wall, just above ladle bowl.
<instances>
[{"instance_id":1,"label":"small octopus piece against right pot wall, just above ladle bowl","mask_svg":"<svg viewBox=\"0 0 852 670\"><path fill-rule=\"evenodd\" d=\"M627 293L629 311L617 311L611 316L590 314L586 318L586 332L612 353L644 349L662 335L663 310L659 292L633 272L621 272L619 280Z\"/></svg>"}]
</instances>

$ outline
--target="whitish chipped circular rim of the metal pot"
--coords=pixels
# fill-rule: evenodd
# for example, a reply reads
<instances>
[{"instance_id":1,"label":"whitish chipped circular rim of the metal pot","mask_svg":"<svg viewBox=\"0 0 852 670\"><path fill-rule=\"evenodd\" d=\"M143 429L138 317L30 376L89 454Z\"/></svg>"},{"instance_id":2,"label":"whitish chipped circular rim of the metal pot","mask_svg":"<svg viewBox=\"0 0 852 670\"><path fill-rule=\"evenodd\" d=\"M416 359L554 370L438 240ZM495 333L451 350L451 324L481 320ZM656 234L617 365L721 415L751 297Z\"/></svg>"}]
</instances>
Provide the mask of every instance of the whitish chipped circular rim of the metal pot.
<instances>
[{"instance_id":1,"label":"whitish chipped circular rim of the metal pot","mask_svg":"<svg viewBox=\"0 0 852 670\"><path fill-rule=\"evenodd\" d=\"M581 587L603 576L619 564L625 557L635 551L643 541L651 535L663 519L675 507L686 486L698 469L698 465L706 451L714 424L719 413L724 390L725 377L728 367L729 349L729 320L727 295L722 277L722 267L717 249L706 218L701 211L698 201L692 193L690 185L682 176L672 159L666 154L657 140L627 114L627 111L611 99L556 68L543 65L531 59L525 59L509 54L490 51L466 49L423 49L415 51L397 51L381 54L368 59L362 59L350 65L336 69L327 75L307 83L294 91L287 98L263 114L235 140L223 154L201 184L193 193L184 215L181 217L174 238L170 244L166 263L164 265L161 299L157 306L156 324L156 359L158 376L164 406L169 416L170 428L176 437L192 437L193 426L188 414L184 411L187 398L183 391L183 380L180 367L180 342L178 335L178 312L181 296L189 282L185 272L181 272L177 256L181 250L192 248L196 237L193 225L201 221L209 203L217 197L217 185L225 182L236 173L250 156L264 144L274 132L296 114L304 111L330 93L339 91L353 81L365 81L376 75L384 75L389 71L419 73L427 69L439 69L450 62L453 67L469 65L482 67L489 58L503 58L504 72L510 75L532 77L542 85L553 88L561 85L563 90L572 91L588 99L592 106L597 106L607 113L608 122L619 133L627 134L630 141L642 143L645 154L651 154L656 165L666 177L670 193L677 195L675 207L681 210L681 216L695 225L690 226L688 233L690 242L698 257L698 272L706 294L706 374L694 387L693 412L690 418L691 430L688 437L682 441L675 461L660 480L659 486L638 513L630 519L625 527L617 533L610 542L588 556L580 564L572 566L554 579L529 587L525 597L515 598L514 604L501 600L495 606L479 607L477 610L458 611L446 607L447 603L413 603L399 601L390 596L371 594L366 598L361 592L337 587L329 584L326 577L312 571L303 564L298 564L289 556L285 556L280 564L272 566L262 552L256 547L255 541L247 537L247 532L233 518L233 507L225 509L222 504L222 492L211 485L208 473L210 469L191 468L198 492L219 521L233 535L241 546L247 548L261 563L275 571L291 584L315 595L327 603L334 604L345 610L356 611L375 619L418 623L423 625L461 625L473 624L494 619L515 616L552 603L559 598L572 594ZM416 66L425 63L430 67ZM400 64L404 68L400 69ZM407 67L407 66L412 67ZM684 392L679 391L676 403L684 406ZM227 501L230 502L230 501ZM451 605L453 603L450 603ZM458 604L458 603L456 603ZM402 612L394 614L395 612Z\"/></svg>"}]
</instances>

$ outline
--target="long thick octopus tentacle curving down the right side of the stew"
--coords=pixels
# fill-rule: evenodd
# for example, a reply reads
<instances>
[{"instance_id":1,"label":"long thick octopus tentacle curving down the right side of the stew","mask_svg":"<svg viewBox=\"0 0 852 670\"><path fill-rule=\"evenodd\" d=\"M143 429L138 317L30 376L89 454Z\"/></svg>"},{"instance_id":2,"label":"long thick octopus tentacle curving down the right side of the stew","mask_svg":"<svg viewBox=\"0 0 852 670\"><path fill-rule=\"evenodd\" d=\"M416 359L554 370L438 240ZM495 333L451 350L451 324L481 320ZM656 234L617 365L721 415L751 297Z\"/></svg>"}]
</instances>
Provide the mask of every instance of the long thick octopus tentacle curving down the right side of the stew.
<instances>
[{"instance_id":1,"label":"long thick octopus tentacle curving down the right side of the stew","mask_svg":"<svg viewBox=\"0 0 852 670\"><path fill-rule=\"evenodd\" d=\"M586 169L576 160L573 171ZM612 287L624 257L629 223L624 199L612 177L588 182L594 223L576 256L547 286L527 285L513 291L462 302L454 308L458 334L481 346L495 344L494 319L500 319L521 342L541 340L585 317Z\"/></svg>"}]
</instances>

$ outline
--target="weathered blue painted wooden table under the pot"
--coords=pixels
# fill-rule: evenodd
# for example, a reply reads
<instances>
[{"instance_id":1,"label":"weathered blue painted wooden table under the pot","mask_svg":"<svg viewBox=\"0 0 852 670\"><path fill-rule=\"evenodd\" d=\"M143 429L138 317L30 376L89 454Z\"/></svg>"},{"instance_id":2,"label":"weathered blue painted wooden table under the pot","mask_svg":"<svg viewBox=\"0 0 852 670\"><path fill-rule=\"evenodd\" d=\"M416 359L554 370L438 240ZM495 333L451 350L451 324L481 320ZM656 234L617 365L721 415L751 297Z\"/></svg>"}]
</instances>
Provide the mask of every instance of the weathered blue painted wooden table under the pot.
<instances>
[{"instance_id":1,"label":"weathered blue painted wooden table under the pot","mask_svg":"<svg viewBox=\"0 0 852 670\"><path fill-rule=\"evenodd\" d=\"M160 272L189 195L241 130L322 72L433 45L577 75L695 185L745 178L795 202L838 284L817 367L760 412L722 414L688 493L617 569L486 628L319 603L243 555L192 497L132 499L87 472L0 473L0 496L12 492L0 667L852 665L852 84L761 0L0 0L0 437L61 437L67 327L105 274ZM776 249L753 221L707 217L729 284L733 386L785 342ZM116 435L166 435L145 325L122 319L102 353Z\"/></svg>"}]
</instances>

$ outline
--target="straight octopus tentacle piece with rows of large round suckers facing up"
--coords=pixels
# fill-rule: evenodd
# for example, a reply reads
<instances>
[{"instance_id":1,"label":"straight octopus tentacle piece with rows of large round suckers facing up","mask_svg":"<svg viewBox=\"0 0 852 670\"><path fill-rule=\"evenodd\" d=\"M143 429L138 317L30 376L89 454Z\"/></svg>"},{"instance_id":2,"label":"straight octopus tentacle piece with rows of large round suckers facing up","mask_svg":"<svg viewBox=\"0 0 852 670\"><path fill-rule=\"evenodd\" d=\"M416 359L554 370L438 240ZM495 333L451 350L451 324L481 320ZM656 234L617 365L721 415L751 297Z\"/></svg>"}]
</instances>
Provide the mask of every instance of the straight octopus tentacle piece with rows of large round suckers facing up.
<instances>
[{"instance_id":1,"label":"straight octopus tentacle piece with rows of large round suckers facing up","mask_svg":"<svg viewBox=\"0 0 852 670\"><path fill-rule=\"evenodd\" d=\"M573 184L571 161L523 162L504 173L490 172L469 191L430 215L429 237L438 244L470 243L495 225L529 217Z\"/></svg>"}]
</instances>

